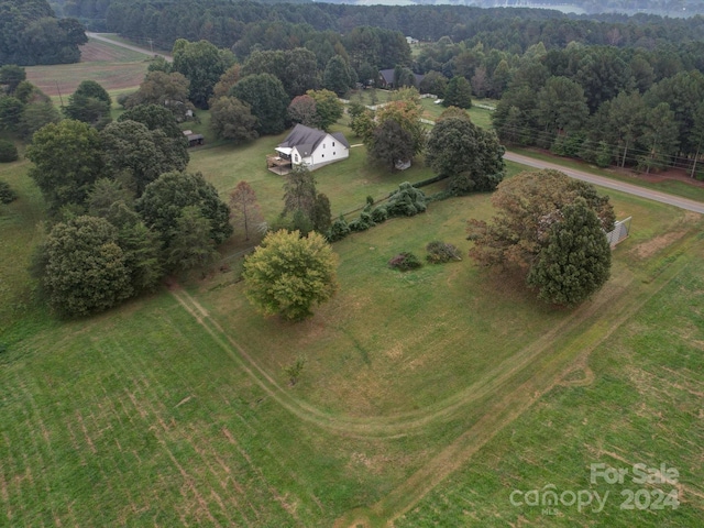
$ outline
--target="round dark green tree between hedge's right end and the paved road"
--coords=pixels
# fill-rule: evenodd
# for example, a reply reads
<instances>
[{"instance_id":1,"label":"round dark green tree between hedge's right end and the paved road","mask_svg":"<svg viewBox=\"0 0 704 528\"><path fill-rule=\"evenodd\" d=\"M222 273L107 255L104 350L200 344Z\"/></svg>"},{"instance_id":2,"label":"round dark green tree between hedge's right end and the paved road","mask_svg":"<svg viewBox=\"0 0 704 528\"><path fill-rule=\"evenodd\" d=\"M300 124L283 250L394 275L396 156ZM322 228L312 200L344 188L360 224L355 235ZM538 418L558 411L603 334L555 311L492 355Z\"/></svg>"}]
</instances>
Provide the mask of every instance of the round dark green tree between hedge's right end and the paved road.
<instances>
[{"instance_id":1,"label":"round dark green tree between hedge's right end and the paved road","mask_svg":"<svg viewBox=\"0 0 704 528\"><path fill-rule=\"evenodd\" d=\"M438 176L451 178L455 193L494 190L504 178L505 148L493 131L480 129L461 112L433 127L426 163Z\"/></svg>"}]
</instances>

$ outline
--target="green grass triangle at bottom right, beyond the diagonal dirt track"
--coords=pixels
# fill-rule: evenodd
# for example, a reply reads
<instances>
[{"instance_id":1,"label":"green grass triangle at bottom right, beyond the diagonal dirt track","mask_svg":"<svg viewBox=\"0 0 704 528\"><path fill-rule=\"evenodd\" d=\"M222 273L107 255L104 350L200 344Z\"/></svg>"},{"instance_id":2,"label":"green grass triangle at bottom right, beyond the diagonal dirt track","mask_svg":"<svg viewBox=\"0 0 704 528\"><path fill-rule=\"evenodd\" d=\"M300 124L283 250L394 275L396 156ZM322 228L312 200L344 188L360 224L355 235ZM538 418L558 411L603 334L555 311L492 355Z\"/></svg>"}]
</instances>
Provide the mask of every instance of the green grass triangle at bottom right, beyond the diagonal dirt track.
<instances>
[{"instance_id":1,"label":"green grass triangle at bottom right, beyond the diagonal dirt track","mask_svg":"<svg viewBox=\"0 0 704 528\"><path fill-rule=\"evenodd\" d=\"M698 244L695 256L674 263L678 273L582 365L396 526L508 526L519 519L537 526L698 526L704 514L701 257ZM623 483L592 483L591 468L598 463L628 474ZM634 464L674 468L678 482L635 483ZM606 506L600 512L594 501L582 512L564 504L550 509L525 504L522 495L510 502L515 490L542 493L550 484L558 494L582 491L585 502L587 493L608 493ZM622 509L628 491L640 493L645 509ZM656 503L660 492L674 492L681 505Z\"/></svg>"}]
</instances>

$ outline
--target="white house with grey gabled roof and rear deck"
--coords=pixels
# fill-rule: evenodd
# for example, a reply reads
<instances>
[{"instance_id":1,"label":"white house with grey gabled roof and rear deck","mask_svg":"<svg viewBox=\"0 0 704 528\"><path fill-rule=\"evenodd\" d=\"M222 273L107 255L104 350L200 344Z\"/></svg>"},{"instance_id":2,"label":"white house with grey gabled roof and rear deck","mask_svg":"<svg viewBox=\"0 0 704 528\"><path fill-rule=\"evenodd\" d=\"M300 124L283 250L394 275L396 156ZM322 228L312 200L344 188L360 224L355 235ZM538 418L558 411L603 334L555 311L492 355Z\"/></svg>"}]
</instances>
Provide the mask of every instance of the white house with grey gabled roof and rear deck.
<instances>
[{"instance_id":1,"label":"white house with grey gabled roof and rear deck","mask_svg":"<svg viewBox=\"0 0 704 528\"><path fill-rule=\"evenodd\" d=\"M266 156L266 166L277 174L286 174L295 165L311 170L329 163L346 160L350 143L341 132L332 134L297 124L276 148L276 155Z\"/></svg>"}]
</instances>

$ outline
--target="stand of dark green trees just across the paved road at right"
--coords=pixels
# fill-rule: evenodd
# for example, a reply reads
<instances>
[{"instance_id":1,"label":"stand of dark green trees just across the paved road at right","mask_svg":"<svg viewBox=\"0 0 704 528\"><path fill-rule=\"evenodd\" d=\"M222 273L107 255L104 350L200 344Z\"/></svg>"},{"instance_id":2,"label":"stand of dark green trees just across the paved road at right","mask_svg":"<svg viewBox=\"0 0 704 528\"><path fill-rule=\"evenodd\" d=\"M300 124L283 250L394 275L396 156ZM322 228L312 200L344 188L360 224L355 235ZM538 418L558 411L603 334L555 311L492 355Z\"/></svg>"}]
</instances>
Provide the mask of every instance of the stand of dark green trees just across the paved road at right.
<instances>
[{"instance_id":1,"label":"stand of dark green trees just across the paved road at right","mask_svg":"<svg viewBox=\"0 0 704 528\"><path fill-rule=\"evenodd\" d=\"M675 54L572 44L524 56L492 121L508 143L604 167L678 165L696 176L703 97L704 74Z\"/></svg>"}]
</instances>

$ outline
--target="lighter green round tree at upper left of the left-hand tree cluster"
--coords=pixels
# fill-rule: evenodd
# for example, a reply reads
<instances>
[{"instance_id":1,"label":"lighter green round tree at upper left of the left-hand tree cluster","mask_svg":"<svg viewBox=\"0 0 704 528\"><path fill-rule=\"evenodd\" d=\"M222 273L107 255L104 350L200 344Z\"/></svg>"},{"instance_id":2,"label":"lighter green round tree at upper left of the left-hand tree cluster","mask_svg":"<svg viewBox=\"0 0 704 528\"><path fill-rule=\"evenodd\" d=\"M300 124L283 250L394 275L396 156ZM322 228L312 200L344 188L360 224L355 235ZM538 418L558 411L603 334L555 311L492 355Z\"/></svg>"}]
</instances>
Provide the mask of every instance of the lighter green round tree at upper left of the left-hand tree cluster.
<instances>
[{"instance_id":1,"label":"lighter green round tree at upper left of the left-hand tree cluster","mask_svg":"<svg viewBox=\"0 0 704 528\"><path fill-rule=\"evenodd\" d=\"M64 120L34 133L26 157L34 163L30 176L44 195L50 209L82 206L103 169L102 144L89 124Z\"/></svg>"}]
</instances>

